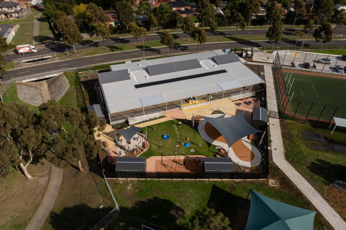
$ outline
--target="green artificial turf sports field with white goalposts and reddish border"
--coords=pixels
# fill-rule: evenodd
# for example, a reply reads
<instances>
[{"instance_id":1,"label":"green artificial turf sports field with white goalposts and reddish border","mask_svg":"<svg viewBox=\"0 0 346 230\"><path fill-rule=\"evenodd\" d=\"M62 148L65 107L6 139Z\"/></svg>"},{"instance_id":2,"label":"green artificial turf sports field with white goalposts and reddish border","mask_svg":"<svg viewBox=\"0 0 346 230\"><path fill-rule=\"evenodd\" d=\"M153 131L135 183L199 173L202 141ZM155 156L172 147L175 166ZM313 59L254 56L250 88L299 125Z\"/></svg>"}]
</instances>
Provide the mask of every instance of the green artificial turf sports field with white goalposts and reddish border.
<instances>
[{"instance_id":1,"label":"green artificial turf sports field with white goalposts and reddish border","mask_svg":"<svg viewBox=\"0 0 346 230\"><path fill-rule=\"evenodd\" d=\"M282 74L290 99L285 113L291 112L296 116L309 114L316 119L331 119L333 115L346 118L346 76L296 70L283 70Z\"/></svg>"}]
</instances>

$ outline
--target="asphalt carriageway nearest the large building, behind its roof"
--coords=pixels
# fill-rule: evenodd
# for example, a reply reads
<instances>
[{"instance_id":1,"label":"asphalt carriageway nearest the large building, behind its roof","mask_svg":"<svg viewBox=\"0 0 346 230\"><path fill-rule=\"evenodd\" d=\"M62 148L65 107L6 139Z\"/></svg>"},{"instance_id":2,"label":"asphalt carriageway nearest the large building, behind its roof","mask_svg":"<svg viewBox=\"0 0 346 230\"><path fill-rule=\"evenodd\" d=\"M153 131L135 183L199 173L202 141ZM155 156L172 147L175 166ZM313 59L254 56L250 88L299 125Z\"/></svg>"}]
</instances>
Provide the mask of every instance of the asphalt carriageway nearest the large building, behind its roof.
<instances>
[{"instance_id":1,"label":"asphalt carriageway nearest the large building, behind its roof","mask_svg":"<svg viewBox=\"0 0 346 230\"><path fill-rule=\"evenodd\" d=\"M285 47L285 46L294 46L295 41L292 40L283 40L274 44L274 47ZM305 44L310 46L316 46L320 43L316 41L306 41ZM301 42L298 42L298 46L301 46ZM328 42L327 45L345 45L344 40L334 40ZM199 46L200 51L205 50L215 50L215 49L226 49L226 48L245 48L245 47L268 47L271 46L269 41L237 41L237 42L219 42L219 43L206 43ZM170 50L170 54L178 54L182 52L197 52L197 44L193 45L183 45L175 46ZM161 56L167 55L167 48L147 48L145 49L145 57L149 56ZM113 52L109 54L95 55L90 57L81 57L68 60L62 60L42 65L34 65L26 68L12 69L8 70L8 74L2 77L2 80L9 80L12 77L21 77L31 74L43 73L50 70L63 69L63 68L72 68L72 67L81 67L81 66L94 66L96 64L102 63L116 63L118 61L124 61L129 59L141 59L143 58L143 49L142 50L132 50L132 51L122 51L122 52Z\"/></svg>"}]
</instances>

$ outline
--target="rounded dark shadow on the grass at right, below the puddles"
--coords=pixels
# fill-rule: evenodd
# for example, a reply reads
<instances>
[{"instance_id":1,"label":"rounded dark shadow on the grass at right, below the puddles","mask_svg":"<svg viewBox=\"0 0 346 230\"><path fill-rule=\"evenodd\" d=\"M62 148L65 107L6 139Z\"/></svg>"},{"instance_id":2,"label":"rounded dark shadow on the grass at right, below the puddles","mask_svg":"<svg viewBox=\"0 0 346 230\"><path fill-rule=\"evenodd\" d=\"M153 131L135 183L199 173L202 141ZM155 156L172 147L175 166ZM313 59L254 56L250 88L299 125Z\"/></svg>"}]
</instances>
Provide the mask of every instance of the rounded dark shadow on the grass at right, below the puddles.
<instances>
[{"instance_id":1,"label":"rounded dark shadow on the grass at right, below the puddles","mask_svg":"<svg viewBox=\"0 0 346 230\"><path fill-rule=\"evenodd\" d=\"M323 159L316 159L311 162L308 169L316 175L322 177L328 182L341 180L345 178L346 166L341 164L332 164Z\"/></svg>"}]
</instances>

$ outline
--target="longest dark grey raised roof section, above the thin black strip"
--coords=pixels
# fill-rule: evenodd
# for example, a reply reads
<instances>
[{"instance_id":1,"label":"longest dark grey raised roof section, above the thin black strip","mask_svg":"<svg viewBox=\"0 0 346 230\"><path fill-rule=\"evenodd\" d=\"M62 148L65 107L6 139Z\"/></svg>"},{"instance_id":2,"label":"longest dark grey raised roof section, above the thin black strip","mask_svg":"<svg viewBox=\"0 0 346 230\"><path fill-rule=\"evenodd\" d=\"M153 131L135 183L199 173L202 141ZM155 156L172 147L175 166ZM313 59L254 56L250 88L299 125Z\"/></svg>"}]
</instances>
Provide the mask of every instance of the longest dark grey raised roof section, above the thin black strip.
<instances>
[{"instance_id":1,"label":"longest dark grey raised roof section, above the thin black strip","mask_svg":"<svg viewBox=\"0 0 346 230\"><path fill-rule=\"evenodd\" d=\"M197 59L190 59L184 61L175 61L171 63L157 64L147 66L147 70L150 76L169 74L179 71L185 71L190 69L202 68Z\"/></svg>"}]
</instances>

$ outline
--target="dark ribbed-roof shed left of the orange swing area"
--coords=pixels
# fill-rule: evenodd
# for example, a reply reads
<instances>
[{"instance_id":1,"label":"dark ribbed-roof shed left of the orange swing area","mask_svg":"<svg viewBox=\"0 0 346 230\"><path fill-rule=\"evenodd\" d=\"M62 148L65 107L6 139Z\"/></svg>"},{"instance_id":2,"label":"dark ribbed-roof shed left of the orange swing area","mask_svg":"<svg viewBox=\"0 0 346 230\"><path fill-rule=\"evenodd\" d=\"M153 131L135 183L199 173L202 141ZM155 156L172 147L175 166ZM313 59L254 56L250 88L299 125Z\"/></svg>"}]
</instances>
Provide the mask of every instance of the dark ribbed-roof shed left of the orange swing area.
<instances>
[{"instance_id":1,"label":"dark ribbed-roof shed left of the orange swing area","mask_svg":"<svg viewBox=\"0 0 346 230\"><path fill-rule=\"evenodd\" d=\"M116 172L144 173L146 157L119 156L115 165Z\"/></svg>"}]
</instances>

